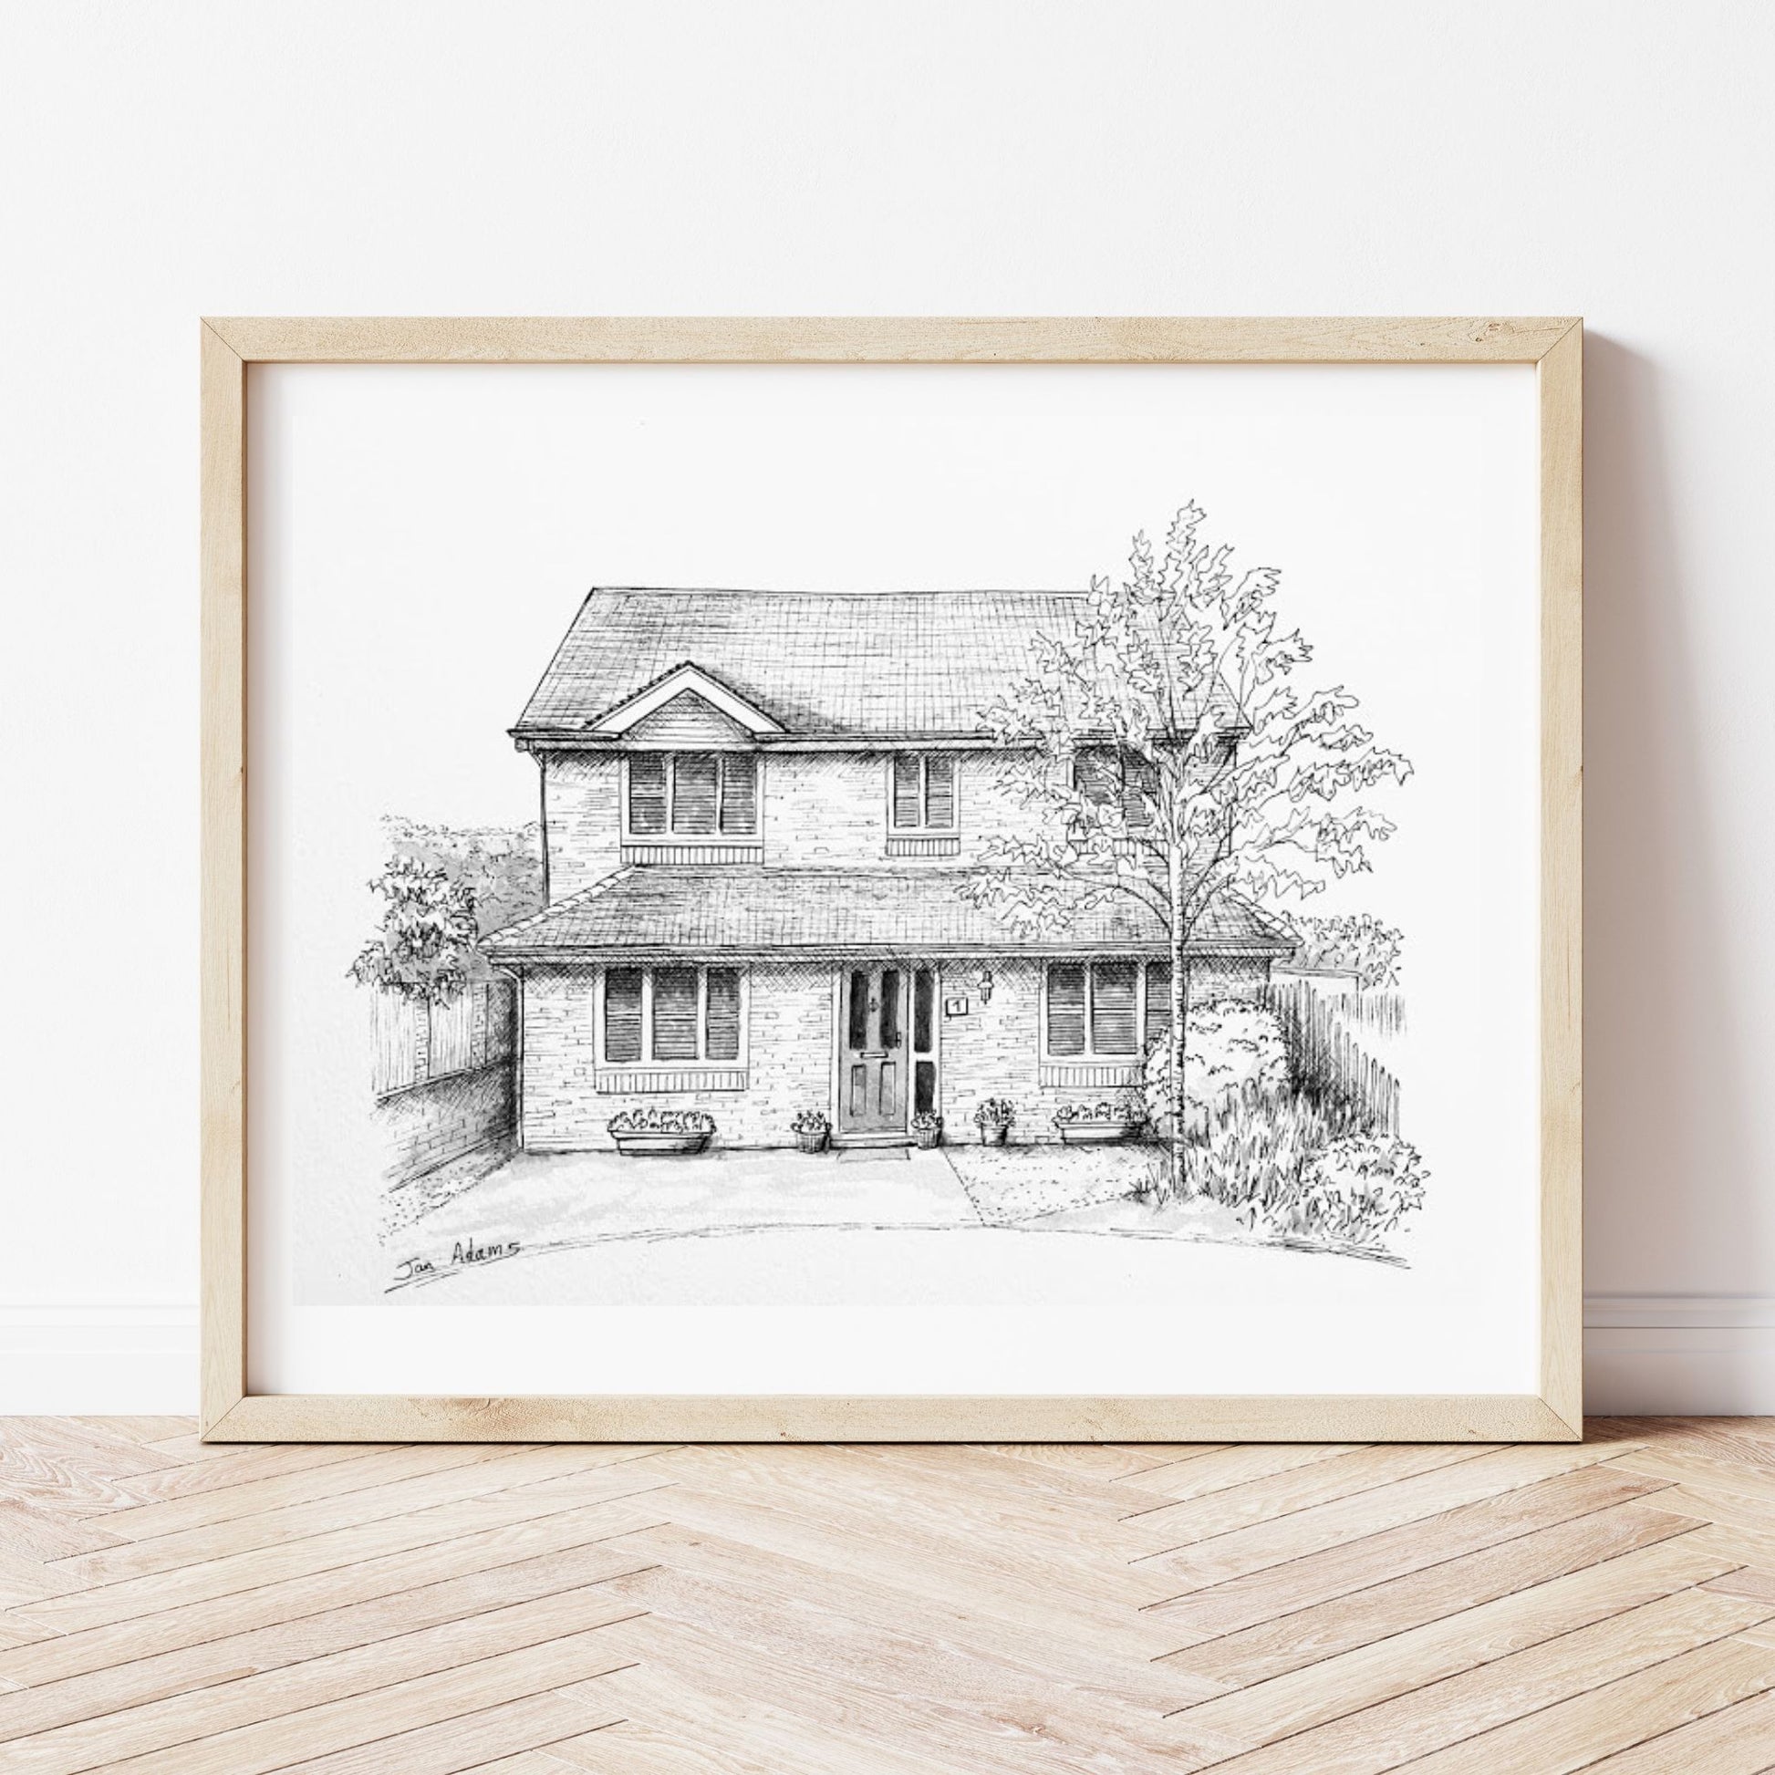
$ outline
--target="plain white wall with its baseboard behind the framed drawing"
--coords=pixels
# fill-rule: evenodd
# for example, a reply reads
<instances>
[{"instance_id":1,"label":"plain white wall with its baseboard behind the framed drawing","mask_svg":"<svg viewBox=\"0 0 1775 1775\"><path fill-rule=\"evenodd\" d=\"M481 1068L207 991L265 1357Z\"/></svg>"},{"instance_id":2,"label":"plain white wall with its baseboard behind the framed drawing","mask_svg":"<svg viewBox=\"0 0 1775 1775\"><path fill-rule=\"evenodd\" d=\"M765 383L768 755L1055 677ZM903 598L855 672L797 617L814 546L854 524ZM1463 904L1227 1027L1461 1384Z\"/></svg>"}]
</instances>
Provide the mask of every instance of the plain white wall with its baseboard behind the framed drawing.
<instances>
[{"instance_id":1,"label":"plain white wall with its baseboard behind the framed drawing","mask_svg":"<svg viewBox=\"0 0 1775 1775\"><path fill-rule=\"evenodd\" d=\"M1582 312L1592 1408L1775 1411L1771 101L1754 0L14 0L0 1409L195 1399L195 316Z\"/></svg>"}]
</instances>

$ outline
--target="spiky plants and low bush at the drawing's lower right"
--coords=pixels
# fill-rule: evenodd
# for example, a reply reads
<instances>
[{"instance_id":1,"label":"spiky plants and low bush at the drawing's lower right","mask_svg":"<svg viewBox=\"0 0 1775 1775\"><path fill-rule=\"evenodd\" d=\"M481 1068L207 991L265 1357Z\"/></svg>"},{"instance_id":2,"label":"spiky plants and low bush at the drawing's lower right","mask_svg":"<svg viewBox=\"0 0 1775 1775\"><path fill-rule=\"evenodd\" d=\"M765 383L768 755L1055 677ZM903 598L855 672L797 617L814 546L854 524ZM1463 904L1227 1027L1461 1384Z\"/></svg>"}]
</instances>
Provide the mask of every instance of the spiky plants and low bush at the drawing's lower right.
<instances>
[{"instance_id":1,"label":"spiky plants and low bush at the drawing's lower right","mask_svg":"<svg viewBox=\"0 0 1775 1775\"><path fill-rule=\"evenodd\" d=\"M1345 1113L1290 1090L1250 1083L1207 1113L1184 1164L1195 1189L1246 1227L1370 1251L1424 1203L1415 1147L1363 1132Z\"/></svg>"}]
</instances>

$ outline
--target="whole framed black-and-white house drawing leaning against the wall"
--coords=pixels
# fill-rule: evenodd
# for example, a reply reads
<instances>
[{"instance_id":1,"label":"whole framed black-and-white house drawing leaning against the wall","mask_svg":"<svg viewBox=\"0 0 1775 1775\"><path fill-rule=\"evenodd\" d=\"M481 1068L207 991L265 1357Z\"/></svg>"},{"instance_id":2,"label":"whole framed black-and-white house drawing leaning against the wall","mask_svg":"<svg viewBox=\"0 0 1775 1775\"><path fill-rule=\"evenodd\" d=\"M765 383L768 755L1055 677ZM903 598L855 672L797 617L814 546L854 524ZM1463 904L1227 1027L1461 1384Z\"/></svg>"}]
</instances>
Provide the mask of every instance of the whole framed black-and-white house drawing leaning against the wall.
<instances>
[{"instance_id":1,"label":"whole framed black-and-white house drawing leaning against the wall","mask_svg":"<svg viewBox=\"0 0 1775 1775\"><path fill-rule=\"evenodd\" d=\"M202 325L202 1424L1571 1440L1574 320Z\"/></svg>"}]
</instances>

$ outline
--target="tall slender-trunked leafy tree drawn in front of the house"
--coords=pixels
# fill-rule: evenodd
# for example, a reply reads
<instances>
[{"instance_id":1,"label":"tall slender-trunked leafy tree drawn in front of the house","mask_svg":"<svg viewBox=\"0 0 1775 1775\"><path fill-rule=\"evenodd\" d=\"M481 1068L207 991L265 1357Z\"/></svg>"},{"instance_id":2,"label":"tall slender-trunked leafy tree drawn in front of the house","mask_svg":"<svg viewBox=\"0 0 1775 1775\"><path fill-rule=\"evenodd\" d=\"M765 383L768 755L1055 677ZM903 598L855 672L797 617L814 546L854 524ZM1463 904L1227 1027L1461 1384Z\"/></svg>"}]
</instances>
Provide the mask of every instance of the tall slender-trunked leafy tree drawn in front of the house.
<instances>
[{"instance_id":1,"label":"tall slender-trunked leafy tree drawn in front of the house","mask_svg":"<svg viewBox=\"0 0 1775 1775\"><path fill-rule=\"evenodd\" d=\"M1035 671L983 710L1033 818L996 838L976 900L1030 930L1129 896L1170 935L1170 1189L1186 1191L1186 951L1227 895L1306 896L1370 868L1393 825L1360 797L1411 765L1374 742L1356 698L1303 692L1312 659L1282 628L1280 575L1235 575L1230 545L1184 506L1156 561L1134 538L1129 575L1093 579L1072 630L1042 635Z\"/></svg>"}]
</instances>

